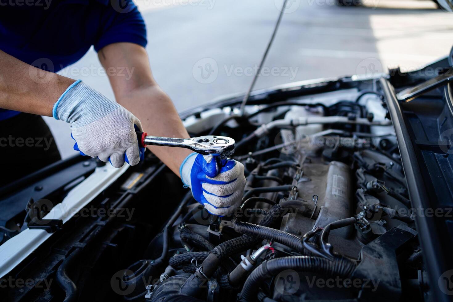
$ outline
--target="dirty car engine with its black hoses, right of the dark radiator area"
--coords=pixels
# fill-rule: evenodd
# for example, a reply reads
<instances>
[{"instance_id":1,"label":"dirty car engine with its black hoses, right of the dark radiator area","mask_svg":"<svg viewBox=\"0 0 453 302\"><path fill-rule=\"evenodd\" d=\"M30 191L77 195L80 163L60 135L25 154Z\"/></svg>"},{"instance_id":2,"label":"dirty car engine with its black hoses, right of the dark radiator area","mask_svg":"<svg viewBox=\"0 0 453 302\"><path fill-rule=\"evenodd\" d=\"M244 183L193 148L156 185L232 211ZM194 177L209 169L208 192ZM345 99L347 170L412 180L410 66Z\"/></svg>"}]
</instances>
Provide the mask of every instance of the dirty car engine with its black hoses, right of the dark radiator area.
<instances>
[{"instance_id":1,"label":"dirty car engine with its black hoses, right of the dark radiator area","mask_svg":"<svg viewBox=\"0 0 453 302\"><path fill-rule=\"evenodd\" d=\"M328 97L256 106L210 129L236 139L243 204L217 217L190 192L182 199L151 243L162 254L128 268L135 279L159 275L144 284L147 301L421 298L421 252L382 96Z\"/></svg>"}]
</instances>

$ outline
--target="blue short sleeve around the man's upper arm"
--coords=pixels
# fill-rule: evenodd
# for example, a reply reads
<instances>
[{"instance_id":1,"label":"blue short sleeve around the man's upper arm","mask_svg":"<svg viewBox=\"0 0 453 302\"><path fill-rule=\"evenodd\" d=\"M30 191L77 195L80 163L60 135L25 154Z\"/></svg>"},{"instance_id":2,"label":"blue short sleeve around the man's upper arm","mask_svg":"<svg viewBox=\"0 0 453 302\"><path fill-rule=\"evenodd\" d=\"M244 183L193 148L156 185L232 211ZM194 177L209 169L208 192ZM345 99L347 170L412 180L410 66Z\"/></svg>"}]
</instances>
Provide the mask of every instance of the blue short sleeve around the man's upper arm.
<instances>
[{"instance_id":1,"label":"blue short sleeve around the man's upper arm","mask_svg":"<svg viewBox=\"0 0 453 302\"><path fill-rule=\"evenodd\" d=\"M127 1L125 7L108 5L101 22L99 38L93 44L96 52L109 44L120 42L146 46L145 21L132 1Z\"/></svg>"}]
</instances>

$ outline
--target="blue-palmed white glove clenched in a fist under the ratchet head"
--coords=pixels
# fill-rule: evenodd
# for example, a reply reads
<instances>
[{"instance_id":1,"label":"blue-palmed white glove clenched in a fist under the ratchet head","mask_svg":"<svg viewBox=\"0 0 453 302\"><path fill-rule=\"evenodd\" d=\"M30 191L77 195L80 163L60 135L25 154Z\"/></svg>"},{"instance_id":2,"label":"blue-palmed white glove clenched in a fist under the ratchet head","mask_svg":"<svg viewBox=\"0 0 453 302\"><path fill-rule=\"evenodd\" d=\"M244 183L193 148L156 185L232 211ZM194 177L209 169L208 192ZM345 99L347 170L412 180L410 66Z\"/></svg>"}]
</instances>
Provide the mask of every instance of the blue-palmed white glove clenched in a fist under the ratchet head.
<instances>
[{"instance_id":1,"label":"blue-palmed white glove clenched in a fist under the ratchet head","mask_svg":"<svg viewBox=\"0 0 453 302\"><path fill-rule=\"evenodd\" d=\"M209 213L225 216L241 206L246 186L242 163L228 159L219 168L213 156L191 153L181 164L179 174L192 189L193 198Z\"/></svg>"}]
</instances>

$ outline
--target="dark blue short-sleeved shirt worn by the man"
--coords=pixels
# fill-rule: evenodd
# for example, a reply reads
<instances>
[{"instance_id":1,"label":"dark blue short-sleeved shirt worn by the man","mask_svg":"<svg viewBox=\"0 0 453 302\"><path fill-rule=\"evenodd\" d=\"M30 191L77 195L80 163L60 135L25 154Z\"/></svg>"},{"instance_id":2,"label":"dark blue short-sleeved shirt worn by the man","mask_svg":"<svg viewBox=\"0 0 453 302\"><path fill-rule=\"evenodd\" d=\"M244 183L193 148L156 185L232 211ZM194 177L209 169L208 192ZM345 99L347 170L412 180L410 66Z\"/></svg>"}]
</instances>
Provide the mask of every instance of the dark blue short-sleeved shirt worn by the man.
<instances>
[{"instance_id":1,"label":"dark blue short-sleeved shirt worn by the man","mask_svg":"<svg viewBox=\"0 0 453 302\"><path fill-rule=\"evenodd\" d=\"M50 72L77 62L92 45L97 52L111 43L130 42L143 47L147 43L145 22L130 0L27 0L5 4L0 6L0 49ZM0 120L17 114L0 109Z\"/></svg>"}]
</instances>

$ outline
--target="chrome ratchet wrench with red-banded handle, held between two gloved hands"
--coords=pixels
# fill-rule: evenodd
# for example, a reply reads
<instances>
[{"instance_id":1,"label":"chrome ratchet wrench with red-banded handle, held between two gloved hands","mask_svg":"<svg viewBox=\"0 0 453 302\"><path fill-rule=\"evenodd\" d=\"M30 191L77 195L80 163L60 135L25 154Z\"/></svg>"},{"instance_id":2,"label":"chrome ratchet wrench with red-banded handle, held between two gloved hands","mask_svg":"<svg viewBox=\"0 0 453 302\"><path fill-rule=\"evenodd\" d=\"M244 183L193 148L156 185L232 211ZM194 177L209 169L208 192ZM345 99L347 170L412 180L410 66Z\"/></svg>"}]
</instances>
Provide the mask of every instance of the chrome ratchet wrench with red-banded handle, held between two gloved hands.
<instances>
[{"instance_id":1,"label":"chrome ratchet wrench with red-banded handle, held between two gloved hands","mask_svg":"<svg viewBox=\"0 0 453 302\"><path fill-rule=\"evenodd\" d=\"M137 131L137 139L141 147L146 145L179 147L191 149L194 152L215 156L217 163L225 165L226 158L233 155L234 139L226 136L204 135L190 139L175 139L171 137L148 136L146 132Z\"/></svg>"}]
</instances>

